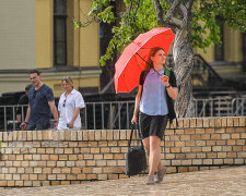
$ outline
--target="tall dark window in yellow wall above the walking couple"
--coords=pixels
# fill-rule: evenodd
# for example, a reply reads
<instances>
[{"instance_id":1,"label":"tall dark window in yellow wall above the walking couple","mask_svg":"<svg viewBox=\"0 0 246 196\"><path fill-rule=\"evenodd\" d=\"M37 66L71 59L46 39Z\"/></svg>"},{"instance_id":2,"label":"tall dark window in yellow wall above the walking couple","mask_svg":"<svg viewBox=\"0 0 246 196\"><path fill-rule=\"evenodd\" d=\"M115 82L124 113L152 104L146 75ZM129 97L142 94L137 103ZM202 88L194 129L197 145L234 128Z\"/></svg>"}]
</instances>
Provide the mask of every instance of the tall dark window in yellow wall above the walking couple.
<instances>
[{"instance_id":1,"label":"tall dark window in yellow wall above the walking couple","mask_svg":"<svg viewBox=\"0 0 246 196\"><path fill-rule=\"evenodd\" d=\"M67 0L54 0L54 64L67 65Z\"/></svg>"}]
</instances>

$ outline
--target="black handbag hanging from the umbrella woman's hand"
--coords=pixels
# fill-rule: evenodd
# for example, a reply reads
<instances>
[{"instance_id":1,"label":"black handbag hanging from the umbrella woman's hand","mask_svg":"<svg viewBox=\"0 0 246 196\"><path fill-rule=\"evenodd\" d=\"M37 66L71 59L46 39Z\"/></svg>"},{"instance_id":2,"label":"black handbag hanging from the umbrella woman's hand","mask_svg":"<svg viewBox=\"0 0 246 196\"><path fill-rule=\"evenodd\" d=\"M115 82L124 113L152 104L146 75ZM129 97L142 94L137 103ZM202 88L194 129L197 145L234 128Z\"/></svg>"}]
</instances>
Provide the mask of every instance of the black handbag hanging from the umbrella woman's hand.
<instances>
[{"instance_id":1,"label":"black handbag hanging from the umbrella woman's hand","mask_svg":"<svg viewBox=\"0 0 246 196\"><path fill-rule=\"evenodd\" d=\"M141 139L140 146L131 147L132 135L137 138L137 125L131 127L130 140L128 142L128 152L126 157L126 175L137 175L147 169L147 155Z\"/></svg>"}]
</instances>

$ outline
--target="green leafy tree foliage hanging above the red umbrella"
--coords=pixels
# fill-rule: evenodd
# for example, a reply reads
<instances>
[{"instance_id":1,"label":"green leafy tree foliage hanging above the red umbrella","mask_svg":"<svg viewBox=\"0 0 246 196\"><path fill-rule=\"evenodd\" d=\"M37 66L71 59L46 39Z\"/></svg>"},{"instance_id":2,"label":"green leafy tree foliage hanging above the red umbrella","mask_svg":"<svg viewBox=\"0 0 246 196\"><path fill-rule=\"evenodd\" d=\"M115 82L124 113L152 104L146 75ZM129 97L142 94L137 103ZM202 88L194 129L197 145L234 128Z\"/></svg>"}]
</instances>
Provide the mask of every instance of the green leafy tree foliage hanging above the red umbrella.
<instances>
[{"instance_id":1,"label":"green leafy tree foliage hanging above the red umbrella","mask_svg":"<svg viewBox=\"0 0 246 196\"><path fill-rule=\"evenodd\" d=\"M115 23L114 37L109 41L107 51L99 60L105 65L113 59L115 50L122 51L139 34L148 32L157 24L153 0L124 0L126 9L121 13L115 12L114 4L121 1L93 0L90 15L104 23ZM160 0L163 8L163 19L169 7L165 0ZM194 0L190 41L192 47L207 48L212 42L219 44L220 27L215 17L227 23L233 29L246 29L246 1L245 0ZM83 27L74 22L78 28Z\"/></svg>"}]
</instances>

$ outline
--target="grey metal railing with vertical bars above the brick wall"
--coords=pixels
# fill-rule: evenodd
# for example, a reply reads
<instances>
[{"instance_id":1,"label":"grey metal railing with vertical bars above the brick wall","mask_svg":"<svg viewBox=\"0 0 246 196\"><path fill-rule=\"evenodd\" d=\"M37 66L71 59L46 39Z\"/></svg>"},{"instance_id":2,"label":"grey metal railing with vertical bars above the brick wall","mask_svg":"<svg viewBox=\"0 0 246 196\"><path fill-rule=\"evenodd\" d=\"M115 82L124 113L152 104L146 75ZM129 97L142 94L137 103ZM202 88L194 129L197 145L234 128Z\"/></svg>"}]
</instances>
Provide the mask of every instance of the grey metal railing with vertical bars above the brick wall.
<instances>
[{"instance_id":1,"label":"grey metal railing with vertical bars above the brick wall","mask_svg":"<svg viewBox=\"0 0 246 196\"><path fill-rule=\"evenodd\" d=\"M246 115L246 98L195 99L195 118ZM24 110L22 107L22 121ZM0 106L0 131L17 130L17 106ZM128 130L134 109L134 101L85 102L81 110L82 128ZM52 122L52 121L51 121Z\"/></svg>"}]
</instances>

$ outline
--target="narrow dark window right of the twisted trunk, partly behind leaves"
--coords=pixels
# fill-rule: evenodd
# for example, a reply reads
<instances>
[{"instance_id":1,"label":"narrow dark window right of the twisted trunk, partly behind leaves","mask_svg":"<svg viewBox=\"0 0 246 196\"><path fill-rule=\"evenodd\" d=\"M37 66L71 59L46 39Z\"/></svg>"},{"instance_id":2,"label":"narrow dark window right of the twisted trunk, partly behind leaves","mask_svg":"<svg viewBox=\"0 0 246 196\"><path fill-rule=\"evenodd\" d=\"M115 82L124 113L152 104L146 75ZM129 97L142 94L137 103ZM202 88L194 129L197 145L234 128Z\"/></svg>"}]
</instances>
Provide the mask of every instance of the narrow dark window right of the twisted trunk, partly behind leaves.
<instances>
[{"instance_id":1,"label":"narrow dark window right of the twisted trunk, partly behind leaves","mask_svg":"<svg viewBox=\"0 0 246 196\"><path fill-rule=\"evenodd\" d=\"M214 46L214 58L215 61L224 61L224 29L223 29L223 23L222 20L215 19L218 25L220 26L220 37L221 37L221 44L215 44Z\"/></svg>"}]
</instances>

